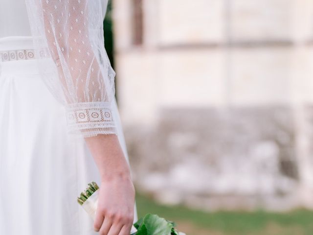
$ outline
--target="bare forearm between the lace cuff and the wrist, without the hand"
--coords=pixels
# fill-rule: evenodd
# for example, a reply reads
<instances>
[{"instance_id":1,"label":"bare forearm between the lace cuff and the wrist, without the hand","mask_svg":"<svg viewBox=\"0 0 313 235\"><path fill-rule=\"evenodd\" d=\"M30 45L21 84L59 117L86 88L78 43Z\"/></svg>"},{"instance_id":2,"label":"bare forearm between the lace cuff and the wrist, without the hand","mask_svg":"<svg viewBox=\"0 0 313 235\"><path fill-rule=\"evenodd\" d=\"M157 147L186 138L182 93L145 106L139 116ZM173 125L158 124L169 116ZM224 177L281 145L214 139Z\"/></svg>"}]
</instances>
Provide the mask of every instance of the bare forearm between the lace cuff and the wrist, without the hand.
<instances>
[{"instance_id":1,"label":"bare forearm between the lace cuff and the wrist, without the hand","mask_svg":"<svg viewBox=\"0 0 313 235\"><path fill-rule=\"evenodd\" d=\"M129 177L130 168L116 135L97 135L85 138L99 169L101 180Z\"/></svg>"}]
</instances>

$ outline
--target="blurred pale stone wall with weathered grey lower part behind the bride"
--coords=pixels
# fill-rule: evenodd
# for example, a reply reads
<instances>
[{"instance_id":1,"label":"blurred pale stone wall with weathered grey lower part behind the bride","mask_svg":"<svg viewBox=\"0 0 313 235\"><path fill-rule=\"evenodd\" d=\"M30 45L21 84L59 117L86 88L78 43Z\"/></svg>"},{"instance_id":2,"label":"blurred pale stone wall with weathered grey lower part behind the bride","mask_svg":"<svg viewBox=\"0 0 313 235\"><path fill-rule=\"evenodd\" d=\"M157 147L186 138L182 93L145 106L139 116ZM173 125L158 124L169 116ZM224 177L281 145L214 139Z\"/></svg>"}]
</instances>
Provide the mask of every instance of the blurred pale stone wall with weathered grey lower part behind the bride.
<instances>
[{"instance_id":1,"label":"blurred pale stone wall with weathered grey lower part behind the bride","mask_svg":"<svg viewBox=\"0 0 313 235\"><path fill-rule=\"evenodd\" d=\"M138 1L137 1L138 2ZM139 190L207 210L313 208L313 0L113 1Z\"/></svg>"}]
</instances>

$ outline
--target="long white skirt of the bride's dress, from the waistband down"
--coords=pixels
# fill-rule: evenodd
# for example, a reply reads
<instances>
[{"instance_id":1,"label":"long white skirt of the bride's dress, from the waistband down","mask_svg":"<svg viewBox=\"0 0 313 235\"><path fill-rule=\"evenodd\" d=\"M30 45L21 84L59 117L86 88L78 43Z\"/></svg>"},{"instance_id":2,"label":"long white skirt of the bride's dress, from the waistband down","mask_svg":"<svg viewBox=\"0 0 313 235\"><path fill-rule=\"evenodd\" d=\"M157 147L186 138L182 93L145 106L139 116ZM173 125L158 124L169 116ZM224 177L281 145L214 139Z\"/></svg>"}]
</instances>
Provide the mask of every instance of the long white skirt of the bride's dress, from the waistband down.
<instances>
[{"instance_id":1,"label":"long white skirt of the bride's dress, from the waistband down","mask_svg":"<svg viewBox=\"0 0 313 235\"><path fill-rule=\"evenodd\" d=\"M0 40L0 52L27 56L24 49L31 47L31 37ZM90 181L100 183L84 139L67 134L65 108L46 88L31 53L27 60L9 59L0 62L0 235L98 234L77 203ZM113 106L128 161L116 101Z\"/></svg>"}]
</instances>

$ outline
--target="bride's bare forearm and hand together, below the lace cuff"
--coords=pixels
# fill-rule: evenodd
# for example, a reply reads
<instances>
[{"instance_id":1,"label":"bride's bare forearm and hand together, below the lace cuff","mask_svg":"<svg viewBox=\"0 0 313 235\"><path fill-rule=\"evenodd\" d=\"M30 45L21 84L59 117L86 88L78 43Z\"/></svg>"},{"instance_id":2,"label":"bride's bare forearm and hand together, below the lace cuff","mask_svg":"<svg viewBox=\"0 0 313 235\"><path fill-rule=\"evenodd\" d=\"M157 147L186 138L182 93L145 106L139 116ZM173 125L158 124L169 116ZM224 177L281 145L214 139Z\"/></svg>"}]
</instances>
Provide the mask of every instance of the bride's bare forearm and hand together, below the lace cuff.
<instances>
[{"instance_id":1,"label":"bride's bare forearm and hand together, below the lace cuff","mask_svg":"<svg viewBox=\"0 0 313 235\"><path fill-rule=\"evenodd\" d=\"M135 190L118 138L112 134L97 135L85 141L101 176L94 230L101 235L129 235L134 220Z\"/></svg>"}]
</instances>

